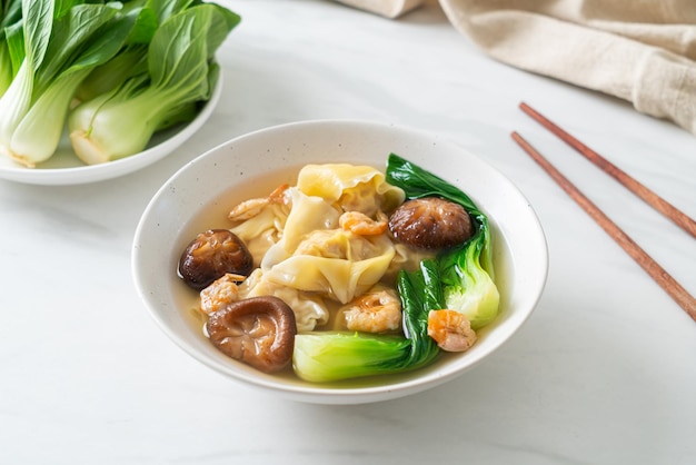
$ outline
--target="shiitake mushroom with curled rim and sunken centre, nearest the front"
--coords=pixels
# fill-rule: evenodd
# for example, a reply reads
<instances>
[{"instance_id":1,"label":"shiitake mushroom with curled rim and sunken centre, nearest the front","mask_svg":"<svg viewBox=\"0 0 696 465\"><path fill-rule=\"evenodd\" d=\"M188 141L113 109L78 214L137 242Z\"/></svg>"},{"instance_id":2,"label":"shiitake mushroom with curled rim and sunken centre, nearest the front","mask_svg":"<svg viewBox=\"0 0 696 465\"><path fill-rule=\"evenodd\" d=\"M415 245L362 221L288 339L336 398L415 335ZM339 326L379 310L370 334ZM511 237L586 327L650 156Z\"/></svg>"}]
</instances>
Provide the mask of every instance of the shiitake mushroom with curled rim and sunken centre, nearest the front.
<instances>
[{"instance_id":1,"label":"shiitake mushroom with curled rim and sunken centre, nearest the front","mask_svg":"<svg viewBox=\"0 0 696 465\"><path fill-rule=\"evenodd\" d=\"M295 313L274 296L250 297L210 315L208 337L225 355L264 372L279 372L292 359Z\"/></svg>"}]
</instances>

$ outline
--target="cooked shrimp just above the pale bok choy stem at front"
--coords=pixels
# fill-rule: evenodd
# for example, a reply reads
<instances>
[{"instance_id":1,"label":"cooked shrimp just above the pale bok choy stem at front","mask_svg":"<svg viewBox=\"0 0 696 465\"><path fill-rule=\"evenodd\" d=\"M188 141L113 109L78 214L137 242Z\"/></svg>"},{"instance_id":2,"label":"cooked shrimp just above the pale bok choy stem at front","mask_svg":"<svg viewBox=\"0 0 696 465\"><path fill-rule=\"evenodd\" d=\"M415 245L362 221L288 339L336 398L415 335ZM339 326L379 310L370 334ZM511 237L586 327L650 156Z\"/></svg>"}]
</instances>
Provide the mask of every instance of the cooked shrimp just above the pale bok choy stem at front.
<instances>
[{"instance_id":1,"label":"cooked shrimp just above the pale bok choy stem at front","mask_svg":"<svg viewBox=\"0 0 696 465\"><path fill-rule=\"evenodd\" d=\"M362 294L344 309L346 326L350 330L385 333L401 327L401 303L391 289Z\"/></svg>"}]
</instances>

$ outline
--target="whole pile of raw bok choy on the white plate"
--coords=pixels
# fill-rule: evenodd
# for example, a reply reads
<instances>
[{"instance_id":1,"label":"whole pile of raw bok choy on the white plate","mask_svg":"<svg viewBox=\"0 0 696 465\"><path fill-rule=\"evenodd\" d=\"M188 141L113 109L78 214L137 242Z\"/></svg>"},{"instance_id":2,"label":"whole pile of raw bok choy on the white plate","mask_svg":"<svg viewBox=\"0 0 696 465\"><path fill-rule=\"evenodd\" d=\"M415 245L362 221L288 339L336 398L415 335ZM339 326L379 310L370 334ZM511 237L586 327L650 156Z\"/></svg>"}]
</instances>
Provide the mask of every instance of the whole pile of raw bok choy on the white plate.
<instances>
[{"instance_id":1,"label":"whole pile of raw bok choy on the white plate","mask_svg":"<svg viewBox=\"0 0 696 465\"><path fill-rule=\"evenodd\" d=\"M0 13L0 154L27 167L56 152L79 102L90 107L74 117L87 138L78 137L77 145L91 150L93 140L108 139L97 155L87 151L89 162L136 154L152 131L193 119L218 77L213 53L239 22L233 12L201 0L4 0ZM119 113L105 110L116 133L103 136L96 109L142 100L150 87L159 89L151 100L160 109L157 121L140 123L141 115L131 110L122 113L127 121L115 123ZM125 150L109 146L131 138Z\"/></svg>"}]
</instances>

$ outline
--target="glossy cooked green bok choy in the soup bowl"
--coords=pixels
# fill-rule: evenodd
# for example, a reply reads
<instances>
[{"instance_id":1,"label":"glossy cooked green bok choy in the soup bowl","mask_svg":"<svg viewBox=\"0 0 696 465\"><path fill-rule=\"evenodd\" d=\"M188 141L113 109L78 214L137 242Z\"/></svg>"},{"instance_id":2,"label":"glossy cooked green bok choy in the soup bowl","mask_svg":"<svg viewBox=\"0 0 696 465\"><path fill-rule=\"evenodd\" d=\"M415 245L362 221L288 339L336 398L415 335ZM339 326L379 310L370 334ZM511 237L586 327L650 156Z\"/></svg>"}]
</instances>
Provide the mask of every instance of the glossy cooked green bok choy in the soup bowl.
<instances>
[{"instance_id":1,"label":"glossy cooked green bok choy in the soup bowl","mask_svg":"<svg viewBox=\"0 0 696 465\"><path fill-rule=\"evenodd\" d=\"M437 196L461 205L476 225L475 234L436 259L422 260L417 271L399 271L397 291L405 337L347 332L298 334L292 364L302 379L334 382L424 367L441 353L428 336L430 310L461 311L475 329L498 314L487 216L461 190L397 155L389 156L386 175L389 184L404 189L407 199Z\"/></svg>"}]
</instances>

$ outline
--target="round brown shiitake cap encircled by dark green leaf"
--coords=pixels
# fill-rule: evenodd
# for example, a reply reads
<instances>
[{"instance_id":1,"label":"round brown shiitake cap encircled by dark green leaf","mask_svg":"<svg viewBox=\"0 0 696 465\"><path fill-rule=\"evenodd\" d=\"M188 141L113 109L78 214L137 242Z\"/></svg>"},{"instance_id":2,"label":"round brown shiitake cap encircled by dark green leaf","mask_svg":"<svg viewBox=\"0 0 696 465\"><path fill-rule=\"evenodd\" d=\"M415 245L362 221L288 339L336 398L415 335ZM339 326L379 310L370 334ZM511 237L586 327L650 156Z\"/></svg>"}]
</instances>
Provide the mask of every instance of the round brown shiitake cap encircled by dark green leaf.
<instances>
[{"instance_id":1,"label":"round brown shiitake cap encircled by dark green leaf","mask_svg":"<svg viewBox=\"0 0 696 465\"><path fill-rule=\"evenodd\" d=\"M459 204L439 197L407 200L389 217L394 238L411 247L441 249L474 234L469 214Z\"/></svg>"}]
</instances>

